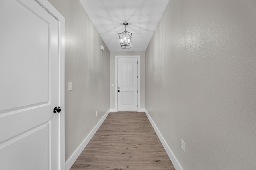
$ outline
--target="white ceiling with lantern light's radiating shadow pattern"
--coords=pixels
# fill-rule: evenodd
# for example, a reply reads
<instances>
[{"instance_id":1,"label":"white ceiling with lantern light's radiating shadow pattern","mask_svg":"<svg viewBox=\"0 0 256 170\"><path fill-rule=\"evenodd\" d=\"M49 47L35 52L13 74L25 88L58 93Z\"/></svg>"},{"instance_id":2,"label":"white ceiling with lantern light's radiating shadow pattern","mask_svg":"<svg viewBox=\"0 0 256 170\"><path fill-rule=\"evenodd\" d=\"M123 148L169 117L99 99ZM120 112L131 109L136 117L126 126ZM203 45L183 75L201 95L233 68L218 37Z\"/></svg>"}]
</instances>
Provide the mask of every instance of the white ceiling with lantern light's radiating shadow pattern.
<instances>
[{"instance_id":1,"label":"white ceiling with lantern light's radiating shadow pattern","mask_svg":"<svg viewBox=\"0 0 256 170\"><path fill-rule=\"evenodd\" d=\"M110 51L146 51L169 0L80 0ZM122 49L118 33L132 33L130 49Z\"/></svg>"}]
</instances>

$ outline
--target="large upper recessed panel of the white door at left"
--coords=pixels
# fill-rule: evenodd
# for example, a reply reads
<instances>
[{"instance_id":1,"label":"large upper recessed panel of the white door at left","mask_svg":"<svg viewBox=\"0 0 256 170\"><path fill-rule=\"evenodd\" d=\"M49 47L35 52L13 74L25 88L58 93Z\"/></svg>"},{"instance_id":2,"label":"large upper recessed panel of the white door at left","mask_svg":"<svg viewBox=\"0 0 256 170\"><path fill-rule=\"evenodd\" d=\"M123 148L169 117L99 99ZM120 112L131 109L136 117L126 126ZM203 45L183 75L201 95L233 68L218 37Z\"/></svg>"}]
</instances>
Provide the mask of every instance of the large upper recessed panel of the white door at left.
<instances>
[{"instance_id":1,"label":"large upper recessed panel of the white door at left","mask_svg":"<svg viewBox=\"0 0 256 170\"><path fill-rule=\"evenodd\" d=\"M48 102L49 23L13 0L1 2L0 8L1 22L6 23L1 26L5 43L0 47L0 69L6 82L1 84L5 89L1 110ZM6 13L12 15L6 17Z\"/></svg>"}]
</instances>

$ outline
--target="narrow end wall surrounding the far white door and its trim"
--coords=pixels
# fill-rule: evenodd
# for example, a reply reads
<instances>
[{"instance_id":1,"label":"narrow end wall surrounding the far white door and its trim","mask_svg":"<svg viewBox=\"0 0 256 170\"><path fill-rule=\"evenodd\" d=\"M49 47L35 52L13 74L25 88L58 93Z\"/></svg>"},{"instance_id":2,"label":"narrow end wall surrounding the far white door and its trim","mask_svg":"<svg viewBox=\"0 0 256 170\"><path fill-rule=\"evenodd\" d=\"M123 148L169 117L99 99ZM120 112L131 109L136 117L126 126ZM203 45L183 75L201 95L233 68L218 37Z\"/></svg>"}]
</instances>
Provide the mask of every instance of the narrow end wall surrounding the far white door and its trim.
<instances>
[{"instance_id":1,"label":"narrow end wall surrounding the far white door and its trim","mask_svg":"<svg viewBox=\"0 0 256 170\"><path fill-rule=\"evenodd\" d=\"M110 109L115 109L115 87L112 87L111 84L115 84L115 80L116 80L115 79L116 55L139 55L140 56L140 109L144 109L145 108L145 52L144 51L110 52Z\"/></svg>"}]
</instances>

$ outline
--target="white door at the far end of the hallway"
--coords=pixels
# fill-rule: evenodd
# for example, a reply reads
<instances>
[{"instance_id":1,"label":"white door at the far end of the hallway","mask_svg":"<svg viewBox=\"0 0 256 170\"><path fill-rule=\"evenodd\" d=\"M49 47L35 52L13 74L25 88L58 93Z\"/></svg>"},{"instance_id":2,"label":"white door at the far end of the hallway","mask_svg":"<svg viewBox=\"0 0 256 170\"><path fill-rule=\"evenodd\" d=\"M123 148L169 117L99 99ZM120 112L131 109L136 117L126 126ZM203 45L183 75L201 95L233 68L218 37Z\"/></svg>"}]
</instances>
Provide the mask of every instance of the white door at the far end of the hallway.
<instances>
[{"instance_id":1,"label":"white door at the far end of the hallway","mask_svg":"<svg viewBox=\"0 0 256 170\"><path fill-rule=\"evenodd\" d=\"M138 59L117 59L117 110L138 111Z\"/></svg>"}]
</instances>

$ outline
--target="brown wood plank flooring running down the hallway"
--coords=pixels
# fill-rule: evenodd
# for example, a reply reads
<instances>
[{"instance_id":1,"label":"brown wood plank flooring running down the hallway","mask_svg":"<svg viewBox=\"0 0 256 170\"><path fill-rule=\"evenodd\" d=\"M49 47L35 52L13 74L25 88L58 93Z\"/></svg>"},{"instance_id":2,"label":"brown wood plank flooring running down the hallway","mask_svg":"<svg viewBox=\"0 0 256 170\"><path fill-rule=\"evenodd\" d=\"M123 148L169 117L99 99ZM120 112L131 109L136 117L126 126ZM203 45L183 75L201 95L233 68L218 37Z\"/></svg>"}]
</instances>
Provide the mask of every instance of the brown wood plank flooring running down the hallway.
<instances>
[{"instance_id":1,"label":"brown wood plank flooring running down the hallway","mask_svg":"<svg viewBox=\"0 0 256 170\"><path fill-rule=\"evenodd\" d=\"M70 170L175 170L144 112L111 112Z\"/></svg>"}]
</instances>

